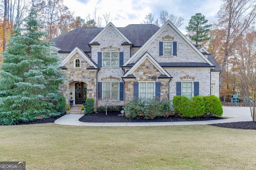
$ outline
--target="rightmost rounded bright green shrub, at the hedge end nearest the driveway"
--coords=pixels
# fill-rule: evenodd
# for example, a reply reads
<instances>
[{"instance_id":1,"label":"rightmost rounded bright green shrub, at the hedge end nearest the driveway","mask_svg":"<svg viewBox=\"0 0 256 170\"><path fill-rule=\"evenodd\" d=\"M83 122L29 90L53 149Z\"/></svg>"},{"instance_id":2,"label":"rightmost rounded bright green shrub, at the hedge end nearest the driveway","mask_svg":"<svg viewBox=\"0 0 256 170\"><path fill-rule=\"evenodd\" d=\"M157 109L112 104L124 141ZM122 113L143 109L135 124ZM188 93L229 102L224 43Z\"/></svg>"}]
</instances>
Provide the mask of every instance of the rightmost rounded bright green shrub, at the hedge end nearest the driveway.
<instances>
[{"instance_id":1,"label":"rightmost rounded bright green shrub, at the hedge end nearest the driveway","mask_svg":"<svg viewBox=\"0 0 256 170\"><path fill-rule=\"evenodd\" d=\"M204 101L206 105L206 113L212 114L214 116L221 116L223 113L222 104L220 99L216 96L204 96Z\"/></svg>"}]
</instances>

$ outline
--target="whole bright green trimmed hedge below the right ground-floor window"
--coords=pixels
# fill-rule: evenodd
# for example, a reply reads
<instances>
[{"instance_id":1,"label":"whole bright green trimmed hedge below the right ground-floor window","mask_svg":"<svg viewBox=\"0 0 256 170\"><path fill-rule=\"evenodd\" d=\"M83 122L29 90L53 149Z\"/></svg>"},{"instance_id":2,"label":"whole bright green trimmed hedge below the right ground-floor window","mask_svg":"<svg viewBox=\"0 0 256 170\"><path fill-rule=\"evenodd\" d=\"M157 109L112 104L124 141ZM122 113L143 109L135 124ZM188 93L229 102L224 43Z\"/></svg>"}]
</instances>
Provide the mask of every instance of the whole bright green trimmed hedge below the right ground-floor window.
<instances>
[{"instance_id":1,"label":"whole bright green trimmed hedge below the right ground-floor window","mask_svg":"<svg viewBox=\"0 0 256 170\"><path fill-rule=\"evenodd\" d=\"M220 99L216 96L174 96L174 111L180 117L221 116L223 113Z\"/></svg>"}]
</instances>

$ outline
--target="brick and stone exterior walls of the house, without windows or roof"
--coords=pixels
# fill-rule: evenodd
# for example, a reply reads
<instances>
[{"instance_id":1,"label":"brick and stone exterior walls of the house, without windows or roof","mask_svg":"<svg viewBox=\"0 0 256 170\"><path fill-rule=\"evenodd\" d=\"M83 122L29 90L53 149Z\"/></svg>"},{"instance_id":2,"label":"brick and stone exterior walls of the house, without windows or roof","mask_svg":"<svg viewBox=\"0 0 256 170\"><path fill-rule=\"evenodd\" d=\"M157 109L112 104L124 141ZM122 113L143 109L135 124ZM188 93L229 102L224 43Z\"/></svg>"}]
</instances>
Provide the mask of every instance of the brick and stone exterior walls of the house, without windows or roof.
<instances>
[{"instance_id":1,"label":"brick and stone exterior walls of the house, without windows or roof","mask_svg":"<svg viewBox=\"0 0 256 170\"><path fill-rule=\"evenodd\" d=\"M62 94L69 103L70 92L75 94L75 84L83 82L87 87L87 98L93 98L95 108L106 105L122 105L125 101L134 98L134 82L160 82L160 98L172 100L176 96L176 82L198 82L199 95L207 96L214 91L214 95L219 95L219 72L211 72L211 63L204 57L199 50L192 47L188 42L172 27L171 23L163 25L160 31L155 33L142 47L132 47L132 42L127 43L126 37L112 25L108 25L95 37L94 42L88 42L91 47L90 53L84 54L77 49L73 56L68 53L59 54L62 65L66 69L60 72L66 78L64 84L60 86ZM159 42L177 42L177 55L160 55ZM126 43L124 43L126 42ZM100 67L98 68L98 52L122 52L124 66L119 67ZM83 53L83 54L82 54ZM143 60L150 55L150 59ZM82 55L81 55L82 54ZM83 56L84 55L84 56ZM69 57L69 58L68 58ZM75 61L80 60L80 67L76 68ZM208 67L178 67L163 66L159 63L206 63ZM130 77L124 77L130 71ZM104 82L124 82L124 100L98 99L98 83ZM119 89L120 90L120 89ZM194 93L194 92L193 92ZM212 92L213 93L213 92ZM72 96L74 98L74 96Z\"/></svg>"}]
</instances>

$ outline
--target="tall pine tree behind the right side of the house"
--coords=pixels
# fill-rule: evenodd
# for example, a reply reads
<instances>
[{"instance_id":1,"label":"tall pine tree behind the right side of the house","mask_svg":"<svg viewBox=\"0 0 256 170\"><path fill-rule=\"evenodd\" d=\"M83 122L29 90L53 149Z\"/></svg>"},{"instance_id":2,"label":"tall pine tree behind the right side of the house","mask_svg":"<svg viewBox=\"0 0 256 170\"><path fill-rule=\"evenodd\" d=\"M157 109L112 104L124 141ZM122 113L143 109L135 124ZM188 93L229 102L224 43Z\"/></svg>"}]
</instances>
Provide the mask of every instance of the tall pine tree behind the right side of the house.
<instances>
[{"instance_id":1,"label":"tall pine tree behind the right side of the house","mask_svg":"<svg viewBox=\"0 0 256 170\"><path fill-rule=\"evenodd\" d=\"M203 45L204 41L209 40L207 33L210 31L211 24L207 24L208 20L205 19L201 13L197 13L191 17L188 26L185 27L188 34L186 35L189 39L195 42L195 45Z\"/></svg>"}]
</instances>

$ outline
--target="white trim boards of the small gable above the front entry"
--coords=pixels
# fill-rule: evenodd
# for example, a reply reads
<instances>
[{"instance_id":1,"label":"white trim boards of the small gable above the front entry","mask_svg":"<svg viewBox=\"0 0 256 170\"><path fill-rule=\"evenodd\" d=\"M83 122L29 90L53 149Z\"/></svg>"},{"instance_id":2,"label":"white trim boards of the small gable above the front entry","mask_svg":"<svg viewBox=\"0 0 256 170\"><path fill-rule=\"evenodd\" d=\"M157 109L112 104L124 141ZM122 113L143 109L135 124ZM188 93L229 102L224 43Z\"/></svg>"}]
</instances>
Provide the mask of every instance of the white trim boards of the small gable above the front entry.
<instances>
[{"instance_id":1,"label":"white trim boards of the small gable above the front entry","mask_svg":"<svg viewBox=\"0 0 256 170\"><path fill-rule=\"evenodd\" d=\"M78 47L76 47L71 53L69 53L68 56L66 56L64 60L60 62L57 68L60 66L64 66L64 64L66 64L76 53L78 53L87 63L90 64L90 69L98 68L97 64L89 59L89 57L82 51L82 49L79 49Z\"/></svg>"}]
</instances>

